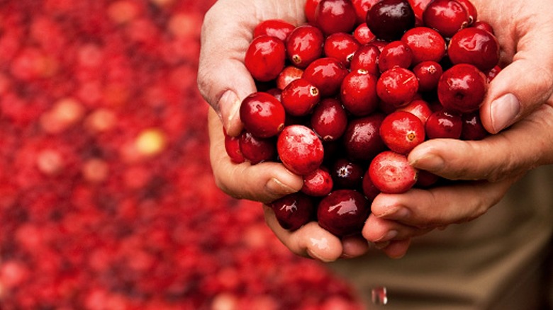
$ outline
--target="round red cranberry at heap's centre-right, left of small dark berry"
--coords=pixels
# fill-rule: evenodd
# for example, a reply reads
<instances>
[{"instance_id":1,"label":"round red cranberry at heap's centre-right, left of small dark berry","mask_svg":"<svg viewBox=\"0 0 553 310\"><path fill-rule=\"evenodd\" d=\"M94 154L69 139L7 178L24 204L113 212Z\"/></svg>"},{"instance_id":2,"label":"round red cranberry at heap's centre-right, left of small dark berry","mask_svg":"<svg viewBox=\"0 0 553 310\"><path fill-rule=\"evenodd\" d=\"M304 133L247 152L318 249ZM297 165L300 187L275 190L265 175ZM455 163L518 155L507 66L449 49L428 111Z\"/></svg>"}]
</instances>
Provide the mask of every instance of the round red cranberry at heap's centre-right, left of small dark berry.
<instances>
[{"instance_id":1,"label":"round red cranberry at heap's centre-right, left of small dark berry","mask_svg":"<svg viewBox=\"0 0 553 310\"><path fill-rule=\"evenodd\" d=\"M384 103L396 108L409 103L418 91L418 79L405 68L384 71L376 82L376 93Z\"/></svg>"}]
</instances>

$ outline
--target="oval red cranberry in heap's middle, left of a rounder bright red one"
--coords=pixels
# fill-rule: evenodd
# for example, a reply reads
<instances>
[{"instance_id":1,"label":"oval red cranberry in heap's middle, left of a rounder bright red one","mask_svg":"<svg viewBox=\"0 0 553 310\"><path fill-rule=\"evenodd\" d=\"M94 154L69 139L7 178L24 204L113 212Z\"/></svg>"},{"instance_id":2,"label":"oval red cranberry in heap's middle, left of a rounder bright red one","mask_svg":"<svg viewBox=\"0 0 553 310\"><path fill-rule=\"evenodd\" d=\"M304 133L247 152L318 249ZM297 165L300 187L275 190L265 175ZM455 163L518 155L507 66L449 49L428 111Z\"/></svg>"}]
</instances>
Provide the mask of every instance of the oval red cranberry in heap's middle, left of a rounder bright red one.
<instances>
[{"instance_id":1,"label":"oval red cranberry in heap's middle, left of a rounder bright red one","mask_svg":"<svg viewBox=\"0 0 553 310\"><path fill-rule=\"evenodd\" d=\"M379 103L376 81L376 76L362 70L347 74L340 87L340 99L346 110L356 116L373 113Z\"/></svg>"}]
</instances>

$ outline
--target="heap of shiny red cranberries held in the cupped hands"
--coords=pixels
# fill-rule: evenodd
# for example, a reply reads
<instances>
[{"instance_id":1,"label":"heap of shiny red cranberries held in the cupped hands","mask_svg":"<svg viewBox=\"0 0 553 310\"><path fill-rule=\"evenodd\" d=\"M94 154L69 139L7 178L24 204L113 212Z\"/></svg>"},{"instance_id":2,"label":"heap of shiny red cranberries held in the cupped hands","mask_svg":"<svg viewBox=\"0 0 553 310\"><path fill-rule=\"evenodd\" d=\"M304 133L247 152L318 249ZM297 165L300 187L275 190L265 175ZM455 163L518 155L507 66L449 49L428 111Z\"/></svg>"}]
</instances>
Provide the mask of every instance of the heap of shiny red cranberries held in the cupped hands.
<instances>
[{"instance_id":1,"label":"heap of shiny red cranberries held in the cupped hands","mask_svg":"<svg viewBox=\"0 0 553 310\"><path fill-rule=\"evenodd\" d=\"M439 184L409 165L414 147L486 136L479 107L499 45L468 0L308 0L305 13L303 25L255 28L245 66L259 91L225 147L236 163L279 161L303 176L271 204L285 229L316 220L359 234L379 193Z\"/></svg>"}]
</instances>

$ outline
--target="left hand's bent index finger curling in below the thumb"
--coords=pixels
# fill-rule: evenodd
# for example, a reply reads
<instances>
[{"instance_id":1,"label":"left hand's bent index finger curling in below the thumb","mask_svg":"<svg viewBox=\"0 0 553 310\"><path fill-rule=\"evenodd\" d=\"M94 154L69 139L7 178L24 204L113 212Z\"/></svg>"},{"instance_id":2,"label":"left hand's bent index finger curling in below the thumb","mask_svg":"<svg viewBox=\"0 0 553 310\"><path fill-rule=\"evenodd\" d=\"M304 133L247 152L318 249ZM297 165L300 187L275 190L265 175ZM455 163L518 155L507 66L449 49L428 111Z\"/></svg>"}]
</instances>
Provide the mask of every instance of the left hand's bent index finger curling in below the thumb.
<instances>
[{"instance_id":1,"label":"left hand's bent index finger curling in below the thumb","mask_svg":"<svg viewBox=\"0 0 553 310\"><path fill-rule=\"evenodd\" d=\"M233 163L226 153L223 128L213 109L208 113L208 127L213 175L225 193L239 199L272 202L301 190L303 178L281 163Z\"/></svg>"}]
</instances>

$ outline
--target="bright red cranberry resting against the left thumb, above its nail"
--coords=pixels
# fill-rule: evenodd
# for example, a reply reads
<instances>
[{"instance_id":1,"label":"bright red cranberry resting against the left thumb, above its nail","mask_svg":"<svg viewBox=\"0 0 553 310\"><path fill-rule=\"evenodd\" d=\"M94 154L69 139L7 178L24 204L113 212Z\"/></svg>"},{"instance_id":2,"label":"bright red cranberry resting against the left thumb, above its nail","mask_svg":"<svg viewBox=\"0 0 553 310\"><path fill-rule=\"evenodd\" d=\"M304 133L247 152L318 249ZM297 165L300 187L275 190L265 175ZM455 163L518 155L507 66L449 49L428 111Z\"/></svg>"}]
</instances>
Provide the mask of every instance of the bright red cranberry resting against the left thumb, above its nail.
<instances>
[{"instance_id":1,"label":"bright red cranberry resting against the left thumb, above its nail","mask_svg":"<svg viewBox=\"0 0 553 310\"><path fill-rule=\"evenodd\" d=\"M285 60L284 42L270 35L260 35L248 46L244 63L254 79L265 82L279 76Z\"/></svg>"}]
</instances>

